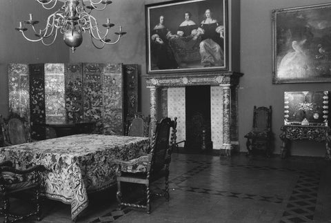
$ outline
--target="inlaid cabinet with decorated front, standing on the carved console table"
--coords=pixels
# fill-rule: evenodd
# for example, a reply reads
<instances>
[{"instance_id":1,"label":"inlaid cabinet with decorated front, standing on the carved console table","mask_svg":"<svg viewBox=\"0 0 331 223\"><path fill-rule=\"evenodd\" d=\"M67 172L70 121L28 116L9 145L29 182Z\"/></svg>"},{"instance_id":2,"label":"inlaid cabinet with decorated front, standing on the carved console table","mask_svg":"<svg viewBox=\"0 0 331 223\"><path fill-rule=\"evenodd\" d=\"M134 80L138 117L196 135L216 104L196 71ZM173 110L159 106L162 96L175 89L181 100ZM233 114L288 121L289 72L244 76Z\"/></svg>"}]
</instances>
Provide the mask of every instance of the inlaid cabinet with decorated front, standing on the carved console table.
<instances>
[{"instance_id":1,"label":"inlaid cabinet with decorated front, standing on the carved console table","mask_svg":"<svg viewBox=\"0 0 331 223\"><path fill-rule=\"evenodd\" d=\"M328 91L284 93L284 124L328 126Z\"/></svg>"}]
</instances>

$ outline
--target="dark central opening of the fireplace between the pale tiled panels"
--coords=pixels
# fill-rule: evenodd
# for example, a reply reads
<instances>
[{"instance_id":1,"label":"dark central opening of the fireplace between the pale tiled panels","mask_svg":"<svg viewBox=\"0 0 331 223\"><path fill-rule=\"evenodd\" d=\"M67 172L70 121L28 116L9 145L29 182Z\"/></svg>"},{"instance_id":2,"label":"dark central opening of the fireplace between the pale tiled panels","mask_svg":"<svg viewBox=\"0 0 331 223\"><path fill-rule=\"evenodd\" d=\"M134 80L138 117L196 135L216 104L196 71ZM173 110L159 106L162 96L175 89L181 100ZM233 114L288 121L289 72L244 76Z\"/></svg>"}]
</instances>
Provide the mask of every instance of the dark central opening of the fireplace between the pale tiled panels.
<instances>
[{"instance_id":1,"label":"dark central opening of the fireplace between the pale tiled panels","mask_svg":"<svg viewBox=\"0 0 331 223\"><path fill-rule=\"evenodd\" d=\"M210 86L186 86L185 101L185 148L194 151L208 149L211 142Z\"/></svg>"}]
</instances>

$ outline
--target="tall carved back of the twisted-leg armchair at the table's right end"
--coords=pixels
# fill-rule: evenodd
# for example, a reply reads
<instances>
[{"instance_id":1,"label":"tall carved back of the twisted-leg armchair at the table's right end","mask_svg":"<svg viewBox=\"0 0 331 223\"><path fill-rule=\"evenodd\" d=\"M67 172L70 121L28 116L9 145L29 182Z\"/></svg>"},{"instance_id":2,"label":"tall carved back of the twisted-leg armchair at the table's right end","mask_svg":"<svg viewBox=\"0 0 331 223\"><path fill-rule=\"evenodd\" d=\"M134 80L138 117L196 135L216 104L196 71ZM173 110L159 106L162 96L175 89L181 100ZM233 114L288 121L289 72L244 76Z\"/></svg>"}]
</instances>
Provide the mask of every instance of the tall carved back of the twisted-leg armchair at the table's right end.
<instances>
[{"instance_id":1,"label":"tall carved back of the twisted-leg armchair at the table's right end","mask_svg":"<svg viewBox=\"0 0 331 223\"><path fill-rule=\"evenodd\" d=\"M177 117L172 121L169 117L165 117L161 122L157 123L152 142L152 171L157 172L163 168L165 164L170 163L172 147L176 144L176 127ZM171 142L169 144L170 128L172 128Z\"/></svg>"}]
</instances>

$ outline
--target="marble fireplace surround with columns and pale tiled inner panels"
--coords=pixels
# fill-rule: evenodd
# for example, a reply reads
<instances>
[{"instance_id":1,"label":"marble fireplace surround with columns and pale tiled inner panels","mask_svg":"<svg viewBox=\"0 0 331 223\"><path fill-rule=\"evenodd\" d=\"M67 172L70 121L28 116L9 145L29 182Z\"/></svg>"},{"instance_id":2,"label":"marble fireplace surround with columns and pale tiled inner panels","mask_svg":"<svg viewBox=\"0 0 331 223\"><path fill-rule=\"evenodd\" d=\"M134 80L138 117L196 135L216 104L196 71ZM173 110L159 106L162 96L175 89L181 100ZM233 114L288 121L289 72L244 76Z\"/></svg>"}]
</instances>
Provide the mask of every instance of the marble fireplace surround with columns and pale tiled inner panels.
<instances>
[{"instance_id":1,"label":"marble fireplace surround with columns and pale tiled inner panels","mask_svg":"<svg viewBox=\"0 0 331 223\"><path fill-rule=\"evenodd\" d=\"M243 74L232 71L145 75L150 88L151 128L160 117L178 117L177 142L185 140L185 86L210 86L213 149L230 156L239 151L238 86Z\"/></svg>"}]
</instances>

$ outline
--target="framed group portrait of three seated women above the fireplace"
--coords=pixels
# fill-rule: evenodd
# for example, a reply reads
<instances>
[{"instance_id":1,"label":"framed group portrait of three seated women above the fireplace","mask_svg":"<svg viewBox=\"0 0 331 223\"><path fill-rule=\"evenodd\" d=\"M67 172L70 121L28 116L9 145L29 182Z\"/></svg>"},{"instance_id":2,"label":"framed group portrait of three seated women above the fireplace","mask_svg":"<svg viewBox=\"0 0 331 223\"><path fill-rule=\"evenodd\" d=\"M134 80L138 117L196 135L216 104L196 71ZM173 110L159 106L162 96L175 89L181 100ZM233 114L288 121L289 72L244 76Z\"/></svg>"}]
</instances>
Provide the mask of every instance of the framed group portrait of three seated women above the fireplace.
<instances>
[{"instance_id":1,"label":"framed group portrait of three seated women above the fireplace","mask_svg":"<svg viewBox=\"0 0 331 223\"><path fill-rule=\"evenodd\" d=\"M226 70L225 0L146 5L148 73Z\"/></svg>"}]
</instances>

